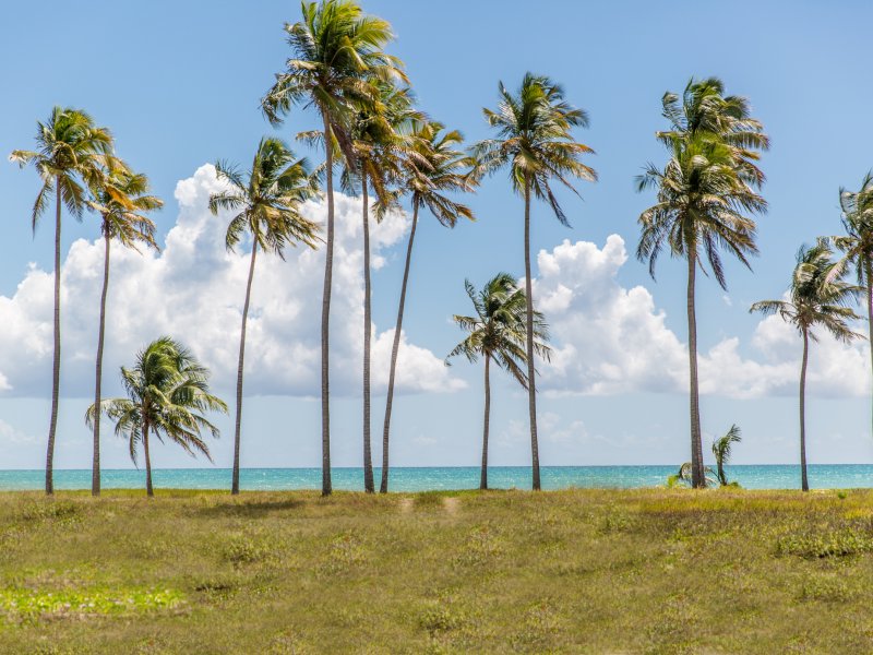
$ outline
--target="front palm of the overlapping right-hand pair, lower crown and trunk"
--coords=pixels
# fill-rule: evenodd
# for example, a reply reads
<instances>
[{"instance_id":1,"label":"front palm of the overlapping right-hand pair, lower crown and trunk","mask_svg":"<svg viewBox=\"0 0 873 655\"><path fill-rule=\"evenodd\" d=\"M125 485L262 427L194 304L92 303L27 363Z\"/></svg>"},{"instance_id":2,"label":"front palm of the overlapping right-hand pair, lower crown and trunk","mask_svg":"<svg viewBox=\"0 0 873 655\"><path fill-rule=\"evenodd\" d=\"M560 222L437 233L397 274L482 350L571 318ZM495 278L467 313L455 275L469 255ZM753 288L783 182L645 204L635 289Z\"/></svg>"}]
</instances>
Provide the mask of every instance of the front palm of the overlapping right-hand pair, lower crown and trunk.
<instances>
[{"instance_id":1,"label":"front palm of the overlapping right-hand pair, lower crown and trunk","mask_svg":"<svg viewBox=\"0 0 873 655\"><path fill-rule=\"evenodd\" d=\"M757 253L755 222L766 201L737 171L737 155L729 145L698 134L691 141L674 139L663 169L649 164L637 178L638 190L657 189L657 204L639 215L642 235L636 255L655 264L665 248L687 263L686 309L691 405L691 463L694 487L705 487L697 378L697 319L695 282L704 258L716 281L727 288L719 249L725 248L749 266Z\"/></svg>"}]
</instances>

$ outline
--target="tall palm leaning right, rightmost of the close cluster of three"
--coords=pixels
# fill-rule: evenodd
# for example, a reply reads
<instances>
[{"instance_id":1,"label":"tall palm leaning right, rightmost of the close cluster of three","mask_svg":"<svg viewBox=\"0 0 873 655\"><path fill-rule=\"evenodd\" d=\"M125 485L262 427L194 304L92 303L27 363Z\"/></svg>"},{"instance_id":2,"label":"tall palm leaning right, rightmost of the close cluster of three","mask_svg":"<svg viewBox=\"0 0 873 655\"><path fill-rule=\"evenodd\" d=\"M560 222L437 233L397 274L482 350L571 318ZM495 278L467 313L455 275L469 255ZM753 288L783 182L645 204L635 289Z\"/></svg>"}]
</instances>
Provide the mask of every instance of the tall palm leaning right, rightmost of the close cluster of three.
<instances>
[{"instance_id":1,"label":"tall palm leaning right, rightmost of the close cluster of three","mask_svg":"<svg viewBox=\"0 0 873 655\"><path fill-rule=\"evenodd\" d=\"M412 225L406 245L406 262L400 284L400 300L397 306L397 322L394 326L394 343L391 347L388 388L385 398L385 421L382 427L382 483L380 492L388 490L388 441L391 436L391 412L394 403L394 382L397 371L397 354L400 348L403 312L406 305L406 288L409 283L409 265L412 260L412 245L421 207L445 227L454 227L459 217L474 221L473 211L446 195L446 192L471 191L476 184L471 176L473 159L456 145L464 141L457 130L445 132L439 122L423 122L411 134L412 154L403 159L403 184L393 192L394 198L409 195L412 205ZM385 210L385 205L379 207Z\"/></svg>"}]
</instances>

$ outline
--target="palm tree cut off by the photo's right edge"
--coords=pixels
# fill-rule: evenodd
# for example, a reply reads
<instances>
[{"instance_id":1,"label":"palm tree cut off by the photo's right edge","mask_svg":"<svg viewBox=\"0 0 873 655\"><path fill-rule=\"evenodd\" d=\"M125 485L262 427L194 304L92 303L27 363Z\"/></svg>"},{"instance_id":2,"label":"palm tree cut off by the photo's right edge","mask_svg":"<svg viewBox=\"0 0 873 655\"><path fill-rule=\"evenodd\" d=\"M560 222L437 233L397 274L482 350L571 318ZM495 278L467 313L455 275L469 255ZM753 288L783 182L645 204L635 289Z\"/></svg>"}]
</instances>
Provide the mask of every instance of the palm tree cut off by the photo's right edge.
<instances>
[{"instance_id":1,"label":"palm tree cut off by the photo's right edge","mask_svg":"<svg viewBox=\"0 0 873 655\"><path fill-rule=\"evenodd\" d=\"M835 237L835 246L842 251L842 264L851 265L863 287L868 334L873 344L873 172L868 172L859 191L839 190L839 204L842 210L844 236ZM870 366L873 369L873 348L870 350Z\"/></svg>"}]
</instances>

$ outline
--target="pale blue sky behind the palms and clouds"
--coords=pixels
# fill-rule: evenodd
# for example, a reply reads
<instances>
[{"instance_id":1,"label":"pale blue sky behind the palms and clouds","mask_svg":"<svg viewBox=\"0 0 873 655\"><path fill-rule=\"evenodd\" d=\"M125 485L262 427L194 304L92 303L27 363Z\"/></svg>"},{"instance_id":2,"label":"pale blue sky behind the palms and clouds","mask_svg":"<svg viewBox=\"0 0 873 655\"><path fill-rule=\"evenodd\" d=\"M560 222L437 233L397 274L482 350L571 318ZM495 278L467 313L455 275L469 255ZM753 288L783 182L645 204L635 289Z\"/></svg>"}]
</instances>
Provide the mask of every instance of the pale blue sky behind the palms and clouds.
<instances>
[{"instance_id":1,"label":"pale blue sky behind the palms and clouds","mask_svg":"<svg viewBox=\"0 0 873 655\"><path fill-rule=\"evenodd\" d=\"M740 372L722 369L713 360L714 377L739 378L716 384L717 389L704 396L703 426L708 434L722 432L734 421L742 426L745 440L736 451L738 462L794 462L793 380L789 384L788 378L779 378L755 393L743 393L743 389L755 378L754 366L765 362L772 367L763 377L778 377L773 367L785 377L797 357L784 333L773 333L773 325L762 329L761 319L749 315L746 308L754 300L782 293L802 242L839 230L838 189L857 186L873 165L869 157L873 136L866 129L873 87L866 83L865 57L865 25L873 17L873 8L861 2L827 7L737 2L728 15L723 5L698 2L554 1L534 8L523 2L372 0L364 8L394 25L398 38L392 52L406 62L421 107L461 129L469 142L488 135L481 107L495 104L499 80L515 86L524 72L531 70L564 85L567 98L590 116L590 128L577 136L596 150L588 163L600 180L581 186L584 201L561 195L572 229L558 224L546 207L535 207L534 250L552 252L564 239L571 245L591 242L602 250L610 235L619 235L627 259L612 270L612 278L607 271L599 279L606 281L603 284L613 279L624 290L648 289L650 313L663 312L663 329L681 343L685 341L684 266L663 258L655 283L646 266L634 260L636 219L651 195L635 193L633 178L646 162L663 159L654 132L663 126L660 97L665 91L681 91L692 75L718 75L728 92L751 99L773 141L762 164L768 177L764 194L770 210L758 222L761 257L754 262L754 274L730 262L727 297L713 281L698 287L701 352L736 338L736 353L742 360ZM86 0L59 3L52 8L52 20L46 21L40 7L13 3L0 25L0 57L7 62L0 69L5 91L0 151L29 147L36 120L44 119L55 104L86 108L112 129L119 154L146 172L155 192L167 201L156 216L165 237L180 215L174 200L180 180L191 179L201 166L217 158L247 164L259 138L272 131L260 115L258 100L288 55L282 24L298 16L294 2ZM298 111L278 132L290 139L313 120ZM39 226L35 236L29 226L37 184L33 171L0 166L4 229L0 295L7 298L16 293L32 263L38 271L51 271L50 222ZM467 310L464 278L481 284L498 271L516 275L523 271L522 204L510 192L505 177L488 180L468 202L477 213L476 224L447 230L424 216L417 240L404 327L410 343L435 358L442 358L459 338L449 317ZM93 241L96 225L88 216L82 225L65 218L64 253L76 239ZM215 229L220 229L217 223ZM385 245L385 265L374 275L378 333L393 323L404 243L405 237L397 236ZM320 294L316 286L300 291L311 297ZM582 284L578 293L593 290ZM240 301L241 294L240 287ZM634 301L645 305L646 298ZM75 311L71 309L71 320L81 320L81 332L87 334L87 314L76 318ZM573 321L585 320L570 313L562 317L567 331ZM336 323L343 319L334 317ZM131 315L130 321L135 325L136 317ZM231 345L237 330L236 323L226 326ZM177 336L198 347L195 332ZM756 348L756 343L763 346ZM584 343L576 346L575 356L583 364L586 358L597 359L602 349L597 343L590 344L590 353L585 352ZM627 345L632 353L648 347L645 340ZM4 359L20 355L14 344L5 348L0 346L0 372ZM860 349L852 355L858 353ZM208 353L201 355L208 360ZM864 395L869 381L854 366L859 358L850 358L854 368L840 374L842 360L837 350L823 346L820 356L823 360L833 357L837 364L828 368L827 361L820 361L820 385L811 389L811 461L873 461ZM119 357L127 362L132 353ZM0 394L0 445L9 466L38 467L43 462L50 360L34 356L31 364L34 370L28 374L44 374L41 389L16 384L12 377L13 389ZM607 368L609 365L618 366L603 362ZM115 369L107 368L107 377L111 377L117 364ZM213 368L223 370L220 364ZM466 382L466 389L423 393L410 386L409 393L400 396L395 405L396 463L477 462L480 373L479 367L458 361L446 376ZM253 379L256 374L252 373ZM665 364L665 370L641 373L645 382L612 384L599 394L578 394L581 386L572 380L563 386L555 381L550 385L552 393L541 401L550 426L547 432L552 437L543 443L543 463L684 461L686 398L678 382L668 381L684 374L681 366L667 370ZM658 376L665 378L661 385ZM93 381L88 377L67 377L65 381L58 465L86 466L83 398L92 393ZM216 383L226 386L224 381ZM253 386L253 393L268 390L266 382L260 392L256 381ZM493 462L525 464L529 452L522 434L522 396L504 381L497 383L495 393ZM339 465L360 462L360 401L349 394L334 404L334 453ZM230 391L225 395L231 397ZM382 406L379 396L374 433L380 431ZM229 428L229 422L223 425ZM314 465L319 462L318 429L318 403L313 400L252 395L246 406L243 465ZM229 464L229 446L228 430L215 445L218 465ZM111 437L107 438L107 451L108 465L129 465L124 449ZM190 463L169 446L156 454L158 466Z\"/></svg>"}]
</instances>

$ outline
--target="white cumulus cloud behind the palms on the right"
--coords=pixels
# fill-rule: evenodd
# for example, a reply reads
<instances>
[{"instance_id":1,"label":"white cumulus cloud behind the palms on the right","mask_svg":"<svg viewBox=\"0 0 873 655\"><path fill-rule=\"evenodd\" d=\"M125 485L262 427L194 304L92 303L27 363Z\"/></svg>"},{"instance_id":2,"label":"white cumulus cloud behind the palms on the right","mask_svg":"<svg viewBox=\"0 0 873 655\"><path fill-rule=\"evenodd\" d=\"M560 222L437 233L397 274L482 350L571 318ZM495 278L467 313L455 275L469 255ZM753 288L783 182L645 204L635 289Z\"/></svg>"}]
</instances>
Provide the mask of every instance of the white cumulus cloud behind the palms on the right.
<instances>
[{"instance_id":1,"label":"white cumulus cloud behind the palms on the right","mask_svg":"<svg viewBox=\"0 0 873 655\"><path fill-rule=\"evenodd\" d=\"M565 240L537 258L538 308L553 335L551 364L540 367L551 394L606 395L687 390L687 346L666 325L648 289L622 287L624 240L611 235L602 248ZM809 391L841 397L870 393L866 346L821 335L808 376ZM751 340L757 358L743 357L740 340L726 338L699 353L701 391L731 397L797 393L800 340L778 317L761 321Z\"/></svg>"}]
</instances>

